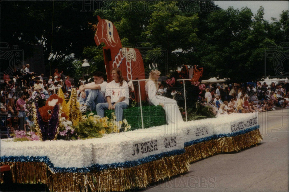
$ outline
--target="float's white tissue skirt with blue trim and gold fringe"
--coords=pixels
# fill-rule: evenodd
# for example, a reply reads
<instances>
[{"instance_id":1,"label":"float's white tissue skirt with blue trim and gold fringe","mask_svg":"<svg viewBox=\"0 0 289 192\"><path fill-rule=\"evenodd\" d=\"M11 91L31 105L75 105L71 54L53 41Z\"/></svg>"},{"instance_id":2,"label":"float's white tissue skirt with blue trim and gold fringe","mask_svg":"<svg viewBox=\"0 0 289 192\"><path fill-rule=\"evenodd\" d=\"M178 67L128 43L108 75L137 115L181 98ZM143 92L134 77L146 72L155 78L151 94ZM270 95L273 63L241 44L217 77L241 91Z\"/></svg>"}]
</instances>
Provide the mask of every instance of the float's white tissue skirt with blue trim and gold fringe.
<instances>
[{"instance_id":1,"label":"float's white tissue skirt with blue trim and gold fringe","mask_svg":"<svg viewBox=\"0 0 289 192\"><path fill-rule=\"evenodd\" d=\"M255 114L230 114L85 140L1 139L0 164L11 165L14 183L44 183L50 191L125 191L261 140Z\"/></svg>"}]
</instances>

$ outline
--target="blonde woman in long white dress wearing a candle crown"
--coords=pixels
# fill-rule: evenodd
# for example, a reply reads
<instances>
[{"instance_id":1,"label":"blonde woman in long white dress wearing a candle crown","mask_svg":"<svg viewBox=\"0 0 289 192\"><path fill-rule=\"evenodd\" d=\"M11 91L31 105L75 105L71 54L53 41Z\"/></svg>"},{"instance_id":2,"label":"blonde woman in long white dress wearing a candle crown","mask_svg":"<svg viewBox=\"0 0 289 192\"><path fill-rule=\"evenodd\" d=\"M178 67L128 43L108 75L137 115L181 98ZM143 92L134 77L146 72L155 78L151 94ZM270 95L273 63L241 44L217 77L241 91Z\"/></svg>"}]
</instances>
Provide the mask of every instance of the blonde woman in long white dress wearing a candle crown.
<instances>
[{"instance_id":1,"label":"blonde woman in long white dress wearing a candle crown","mask_svg":"<svg viewBox=\"0 0 289 192\"><path fill-rule=\"evenodd\" d=\"M153 105L160 105L164 108L166 113L166 122L168 124L183 122L177 101L171 98L157 95L159 77L160 71L151 70L149 79L145 82L145 91L148 96L148 101Z\"/></svg>"}]
</instances>

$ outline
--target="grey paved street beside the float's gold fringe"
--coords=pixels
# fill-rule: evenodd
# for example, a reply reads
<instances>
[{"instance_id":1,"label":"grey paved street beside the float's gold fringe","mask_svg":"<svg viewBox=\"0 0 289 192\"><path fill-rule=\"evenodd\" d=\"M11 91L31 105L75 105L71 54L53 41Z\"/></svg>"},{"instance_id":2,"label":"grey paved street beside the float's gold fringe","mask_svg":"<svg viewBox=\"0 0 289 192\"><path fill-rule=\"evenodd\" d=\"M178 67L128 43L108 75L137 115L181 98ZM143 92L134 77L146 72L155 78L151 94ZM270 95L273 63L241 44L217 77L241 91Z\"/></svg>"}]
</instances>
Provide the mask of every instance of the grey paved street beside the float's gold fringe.
<instances>
[{"instance_id":1,"label":"grey paved street beside the float's gold fringe","mask_svg":"<svg viewBox=\"0 0 289 192\"><path fill-rule=\"evenodd\" d=\"M258 120L258 146L192 163L186 174L141 191L288 191L288 108L259 113Z\"/></svg>"}]
</instances>

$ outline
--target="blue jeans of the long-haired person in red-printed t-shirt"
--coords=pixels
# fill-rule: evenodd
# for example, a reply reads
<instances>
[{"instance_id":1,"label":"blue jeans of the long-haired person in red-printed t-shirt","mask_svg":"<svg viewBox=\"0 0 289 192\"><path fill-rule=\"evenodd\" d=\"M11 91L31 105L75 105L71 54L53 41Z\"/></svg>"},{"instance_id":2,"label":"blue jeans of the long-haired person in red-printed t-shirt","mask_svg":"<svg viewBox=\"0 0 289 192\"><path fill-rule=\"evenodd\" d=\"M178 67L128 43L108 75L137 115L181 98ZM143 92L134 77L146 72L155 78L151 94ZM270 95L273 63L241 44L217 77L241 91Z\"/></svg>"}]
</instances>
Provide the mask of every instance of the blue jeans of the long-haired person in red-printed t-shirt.
<instances>
[{"instance_id":1,"label":"blue jeans of the long-haired person in red-printed t-shirt","mask_svg":"<svg viewBox=\"0 0 289 192\"><path fill-rule=\"evenodd\" d=\"M113 105L114 103L112 103ZM118 102L115 104L115 116L116 121L123 120L123 109L127 109L128 105L125 102ZM99 103L96 105L97 115L104 117L104 110L108 109L108 103Z\"/></svg>"}]
</instances>

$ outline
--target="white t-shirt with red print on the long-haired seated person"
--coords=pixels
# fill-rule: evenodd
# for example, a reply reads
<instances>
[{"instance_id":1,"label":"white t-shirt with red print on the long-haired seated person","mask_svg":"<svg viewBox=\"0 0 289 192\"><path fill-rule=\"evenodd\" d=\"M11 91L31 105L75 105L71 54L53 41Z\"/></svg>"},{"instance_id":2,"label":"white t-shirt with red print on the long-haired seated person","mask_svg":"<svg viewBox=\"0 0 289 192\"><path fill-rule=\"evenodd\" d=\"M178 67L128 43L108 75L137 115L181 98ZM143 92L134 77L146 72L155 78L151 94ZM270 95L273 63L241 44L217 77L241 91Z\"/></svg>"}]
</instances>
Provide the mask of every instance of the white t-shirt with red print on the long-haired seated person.
<instances>
[{"instance_id":1,"label":"white t-shirt with red print on the long-haired seated person","mask_svg":"<svg viewBox=\"0 0 289 192\"><path fill-rule=\"evenodd\" d=\"M119 100L121 97L125 97L125 102L127 105L129 103L129 90L128 90L128 85L126 81L123 81L123 86L119 86L120 83L116 83L114 80L109 82L106 86L105 90L105 97L110 96L111 102L116 102Z\"/></svg>"}]
</instances>

